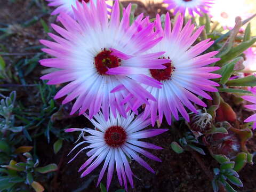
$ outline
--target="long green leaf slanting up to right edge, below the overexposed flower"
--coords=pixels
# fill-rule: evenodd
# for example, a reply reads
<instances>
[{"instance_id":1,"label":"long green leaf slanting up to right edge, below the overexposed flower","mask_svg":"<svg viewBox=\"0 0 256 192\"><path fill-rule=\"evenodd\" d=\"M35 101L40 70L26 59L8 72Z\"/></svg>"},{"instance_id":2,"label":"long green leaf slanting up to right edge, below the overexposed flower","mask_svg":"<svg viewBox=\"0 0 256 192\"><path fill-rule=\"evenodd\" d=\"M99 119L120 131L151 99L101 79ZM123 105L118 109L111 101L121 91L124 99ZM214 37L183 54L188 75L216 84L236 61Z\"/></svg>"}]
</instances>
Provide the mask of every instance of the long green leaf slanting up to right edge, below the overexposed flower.
<instances>
[{"instance_id":1,"label":"long green leaf slanting up to right edge, below the overexposed flower","mask_svg":"<svg viewBox=\"0 0 256 192\"><path fill-rule=\"evenodd\" d=\"M245 50L247 50L250 46L252 46L256 42L256 37L250 39L249 41L242 42L236 47L233 47L226 55L224 55L221 60L219 60L216 65L222 66L223 64L227 63L228 61L238 57L241 55Z\"/></svg>"}]
</instances>

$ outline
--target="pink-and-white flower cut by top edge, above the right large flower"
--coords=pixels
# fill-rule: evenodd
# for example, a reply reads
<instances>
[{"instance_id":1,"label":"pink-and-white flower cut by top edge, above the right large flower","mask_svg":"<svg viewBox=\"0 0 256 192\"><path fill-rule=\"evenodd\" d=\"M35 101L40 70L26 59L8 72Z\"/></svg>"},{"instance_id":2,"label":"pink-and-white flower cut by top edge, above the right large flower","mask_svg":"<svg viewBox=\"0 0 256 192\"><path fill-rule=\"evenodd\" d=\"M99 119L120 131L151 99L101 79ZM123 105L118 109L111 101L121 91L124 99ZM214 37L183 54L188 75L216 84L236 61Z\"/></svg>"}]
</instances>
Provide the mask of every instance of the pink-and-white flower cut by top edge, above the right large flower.
<instances>
[{"instance_id":1,"label":"pink-and-white flower cut by top edge, above the right large flower","mask_svg":"<svg viewBox=\"0 0 256 192\"><path fill-rule=\"evenodd\" d=\"M186 10L188 13L195 17L194 12L199 15L202 15L202 12L207 13L209 12L207 8L211 7L210 5L213 4L214 0L164 0L163 3L167 3L167 10L174 9L174 15L177 12L181 12L185 15Z\"/></svg>"}]
</instances>

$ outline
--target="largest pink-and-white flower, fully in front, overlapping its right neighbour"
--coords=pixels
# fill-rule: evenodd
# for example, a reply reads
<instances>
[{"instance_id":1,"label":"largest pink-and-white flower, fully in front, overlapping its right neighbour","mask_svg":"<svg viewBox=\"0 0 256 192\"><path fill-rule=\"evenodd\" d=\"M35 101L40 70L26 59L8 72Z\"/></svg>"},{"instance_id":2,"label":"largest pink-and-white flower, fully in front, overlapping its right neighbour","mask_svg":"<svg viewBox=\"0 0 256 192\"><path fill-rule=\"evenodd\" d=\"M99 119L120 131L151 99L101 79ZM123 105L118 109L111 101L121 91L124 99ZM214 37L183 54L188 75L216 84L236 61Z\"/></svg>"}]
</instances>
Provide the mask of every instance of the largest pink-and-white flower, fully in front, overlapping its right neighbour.
<instances>
[{"instance_id":1,"label":"largest pink-and-white flower, fully in front, overlapping its right neighbour","mask_svg":"<svg viewBox=\"0 0 256 192\"><path fill-rule=\"evenodd\" d=\"M56 57L41 60L41 65L60 69L41 79L49 79L48 84L70 82L54 98L67 95L63 104L76 98L71 114L77 110L83 114L89 109L92 118L102 108L107 120L110 107L114 116L119 111L125 117L124 103L127 102L127 107L132 106L126 97L128 93L146 103L148 99L155 100L139 83L158 88L161 83L141 74L141 69L163 69L162 64L167 60L157 59L164 52L142 53L162 37L155 38L156 33L152 33L154 23L145 26L148 18L142 20L143 14L130 26L131 4L124 10L122 21L119 20L118 1L115 1L110 21L105 1L98 0L97 9L93 2L90 9L84 1L82 4L77 3L77 9L74 8L77 22L63 13L59 20L66 29L52 24L62 37L50 33L55 42L41 40L50 48L42 51ZM115 71L109 73L110 68ZM117 92L110 93L114 91Z\"/></svg>"}]
</instances>

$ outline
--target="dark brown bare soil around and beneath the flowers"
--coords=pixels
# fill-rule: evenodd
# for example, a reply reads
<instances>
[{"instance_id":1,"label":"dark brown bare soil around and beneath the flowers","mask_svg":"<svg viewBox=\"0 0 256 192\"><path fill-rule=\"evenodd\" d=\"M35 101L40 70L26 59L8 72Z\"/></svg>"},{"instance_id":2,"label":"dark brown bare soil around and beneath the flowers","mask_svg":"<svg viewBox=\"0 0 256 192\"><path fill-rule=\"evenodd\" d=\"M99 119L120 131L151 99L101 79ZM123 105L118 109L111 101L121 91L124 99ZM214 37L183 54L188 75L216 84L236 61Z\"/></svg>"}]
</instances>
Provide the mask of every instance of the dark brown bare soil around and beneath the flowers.
<instances>
[{"instance_id":1,"label":"dark brown bare soil around and beneath the flowers","mask_svg":"<svg viewBox=\"0 0 256 192\"><path fill-rule=\"evenodd\" d=\"M29 7L30 0L16 0L15 3L10 3L7 0L1 0L0 2L0 25L3 24L21 24L25 21L30 20L31 18L42 15L42 7L38 5L33 5ZM37 2L37 1L33 1ZM42 1L43 2L43 1ZM166 13L164 7L161 4L151 4L145 6L137 1L130 1L132 3L138 3L139 8L136 14L141 12L145 15L150 15L150 18L155 17L155 13ZM46 5L46 3L45 3ZM127 2L124 2L124 6L127 5ZM49 17L49 15L44 15L42 17L46 22L53 22L54 18ZM3 27L3 26L1 26ZM25 47L40 45L38 42L39 39L47 38L43 30L43 27L40 22L36 22L34 25L31 25L27 28L20 29L18 27L17 33L9 36L5 39L0 40L0 44L4 45L7 49L6 52L9 53L28 53L26 56L15 55L12 57L4 57L7 65L13 65L15 61L22 57L33 57L34 53L40 52L39 50L30 50L26 51ZM0 47L0 51L1 50ZM31 54L30 54L31 53ZM43 67L36 67L35 71L26 77L28 83L34 83L39 81L39 76L41 76L41 70L45 69ZM14 88L13 88L14 89ZM28 103L27 98L31 97L31 94L36 94L36 90L32 89L28 92L24 87L15 87L17 90L18 97L21 98L25 103ZM29 101L31 102L31 101ZM245 111L240 111L238 115L241 115L242 119L243 113ZM54 126L63 129L67 125L72 125L73 127L92 127L91 124L83 117L74 117L69 118L64 121L57 121ZM198 192L210 192L213 191L211 187L211 180L207 178L205 172L201 169L201 166L197 163L196 159L189 153L175 154L170 148L172 141L177 140L177 135L172 132L171 127L163 123L162 128L169 128L170 131L159 135L155 138L147 139L148 142L154 143L155 145L162 146L163 150L152 151L152 153L162 159L162 163L153 162L148 159L146 161L150 166L156 171L156 174L152 174L136 162L131 163L132 170L137 178L134 178L134 189L129 189L129 191L170 191L170 192L179 192L179 191L198 191ZM75 134L74 134L75 135ZM74 143L65 141L63 143L62 149L58 154L53 153L53 142L57 140L54 135L50 143L47 143L47 140L44 136L40 137L37 140L37 155L41 159L41 165L46 165L48 163L57 163L59 165L59 171L55 174L52 180L43 182L44 186L49 186L46 188L46 191L54 192L78 192L78 191L100 191L99 188L96 188L98 174L100 168L94 170L89 176L85 178L80 178L80 174L77 173L79 166L86 161L85 152L81 153L73 162L67 164L71 157L67 157L69 151L75 146ZM251 139L247 145L249 150L253 153L256 151L256 141L254 138ZM32 144L32 143L30 143ZM77 152L78 150L76 150ZM205 149L206 151L206 149ZM72 154L74 155L74 154ZM212 172L213 167L218 166L212 157L209 154L206 156L199 155L202 162L206 165L207 169ZM256 191L256 167L247 164L243 171L240 173L241 180L244 183L244 188L239 188L241 191ZM106 177L103 178L103 183L106 183ZM40 181L39 181L40 182ZM110 191L115 191L116 189L121 188L118 184L116 175L114 176Z\"/></svg>"}]
</instances>

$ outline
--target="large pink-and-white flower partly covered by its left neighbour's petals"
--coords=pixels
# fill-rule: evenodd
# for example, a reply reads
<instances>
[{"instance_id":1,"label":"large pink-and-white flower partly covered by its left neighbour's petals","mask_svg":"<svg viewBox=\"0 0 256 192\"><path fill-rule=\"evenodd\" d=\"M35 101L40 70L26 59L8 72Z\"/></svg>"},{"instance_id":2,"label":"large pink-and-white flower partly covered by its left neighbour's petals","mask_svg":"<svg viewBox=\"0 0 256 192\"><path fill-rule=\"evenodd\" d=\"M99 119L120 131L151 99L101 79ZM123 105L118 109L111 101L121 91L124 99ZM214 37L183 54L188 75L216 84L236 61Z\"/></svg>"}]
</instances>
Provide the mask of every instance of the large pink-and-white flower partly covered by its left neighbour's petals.
<instances>
[{"instance_id":1,"label":"large pink-and-white flower partly covered by its left neighbour's petals","mask_svg":"<svg viewBox=\"0 0 256 192\"><path fill-rule=\"evenodd\" d=\"M168 13L166 14L164 29L159 15L157 15L155 22L156 30L159 30L159 35L164 36L164 38L148 52L165 51L164 58L171 61L164 64L166 69L145 69L145 75L151 76L163 84L162 89L151 86L145 87L157 99L157 102L150 101L149 105L146 105L145 117L151 114L151 121L154 124L158 112L160 122L162 122L163 115L165 115L167 122L171 124L172 115L175 119L178 119L178 112L180 112L186 121L189 121L184 106L194 113L198 111L191 101L206 107L205 103L195 94L206 99L212 99L205 91L218 91L213 86L219 84L209 79L220 77L218 74L210 73L219 69L219 67L207 66L219 60L219 58L212 58L218 52L199 55L207 50L213 44L213 41L206 39L193 45L204 26L199 27L193 34L195 26L189 20L185 27L182 27L183 17L181 15L179 15L172 29ZM138 100L137 103L139 103Z\"/></svg>"}]
</instances>

